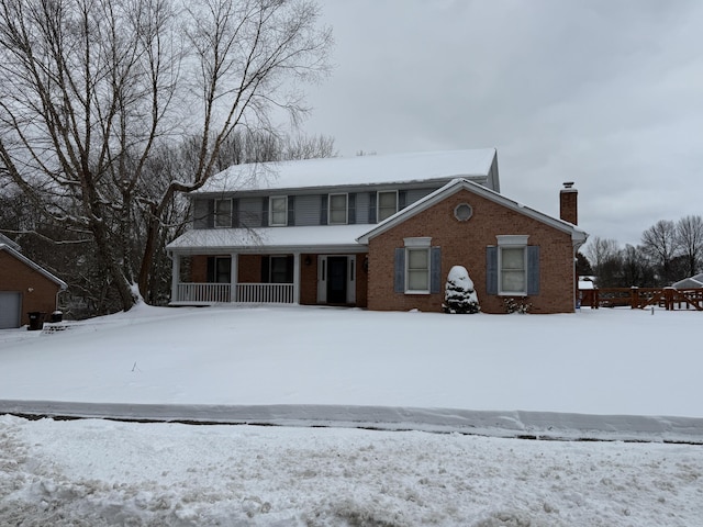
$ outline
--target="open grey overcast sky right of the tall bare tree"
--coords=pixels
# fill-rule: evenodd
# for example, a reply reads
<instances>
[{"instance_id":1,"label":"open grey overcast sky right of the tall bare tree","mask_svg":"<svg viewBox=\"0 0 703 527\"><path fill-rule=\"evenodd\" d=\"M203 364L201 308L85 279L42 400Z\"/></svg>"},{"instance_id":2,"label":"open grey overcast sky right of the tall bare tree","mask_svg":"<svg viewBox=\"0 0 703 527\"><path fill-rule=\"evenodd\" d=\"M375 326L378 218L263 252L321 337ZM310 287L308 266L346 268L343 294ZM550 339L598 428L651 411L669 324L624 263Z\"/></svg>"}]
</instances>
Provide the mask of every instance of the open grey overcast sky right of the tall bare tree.
<instances>
[{"instance_id":1,"label":"open grey overcast sky right of the tall bare tree","mask_svg":"<svg viewBox=\"0 0 703 527\"><path fill-rule=\"evenodd\" d=\"M335 70L308 134L342 156L496 147L502 193L639 243L703 215L703 2L321 0Z\"/></svg>"}]
</instances>

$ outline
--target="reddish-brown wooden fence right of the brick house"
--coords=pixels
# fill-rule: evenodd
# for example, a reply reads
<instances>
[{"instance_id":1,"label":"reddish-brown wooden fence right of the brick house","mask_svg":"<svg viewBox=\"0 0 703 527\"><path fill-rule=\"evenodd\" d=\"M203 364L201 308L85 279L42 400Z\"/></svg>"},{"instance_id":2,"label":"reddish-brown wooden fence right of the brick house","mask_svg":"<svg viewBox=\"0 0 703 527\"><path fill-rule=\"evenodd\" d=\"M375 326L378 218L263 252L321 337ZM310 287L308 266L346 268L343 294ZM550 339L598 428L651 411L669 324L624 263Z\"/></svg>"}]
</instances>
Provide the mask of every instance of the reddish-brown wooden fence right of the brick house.
<instances>
[{"instance_id":1,"label":"reddish-brown wooden fence right of the brick house","mask_svg":"<svg viewBox=\"0 0 703 527\"><path fill-rule=\"evenodd\" d=\"M602 288L579 290L581 305L599 307L624 307L644 310L649 306L673 310L703 311L703 289L674 288Z\"/></svg>"}]
</instances>

